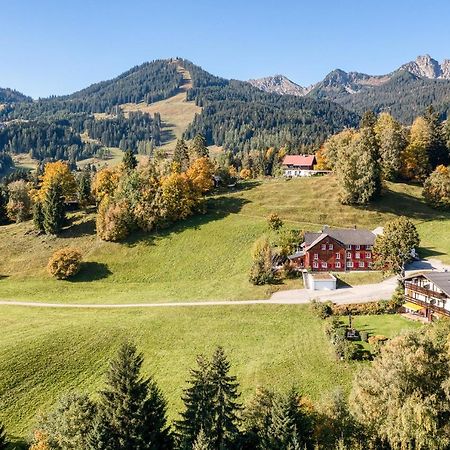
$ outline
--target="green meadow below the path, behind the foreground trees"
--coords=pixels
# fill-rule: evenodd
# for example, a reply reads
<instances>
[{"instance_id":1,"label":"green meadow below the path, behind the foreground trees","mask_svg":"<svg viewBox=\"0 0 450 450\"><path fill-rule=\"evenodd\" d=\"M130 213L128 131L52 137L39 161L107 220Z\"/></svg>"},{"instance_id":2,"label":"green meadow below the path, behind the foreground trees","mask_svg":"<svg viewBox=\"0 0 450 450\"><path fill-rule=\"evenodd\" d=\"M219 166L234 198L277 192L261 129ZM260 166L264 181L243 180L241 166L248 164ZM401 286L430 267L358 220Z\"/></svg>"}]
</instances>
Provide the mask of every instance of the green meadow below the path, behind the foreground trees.
<instances>
[{"instance_id":1,"label":"green meadow below the path, behind the foreground trees","mask_svg":"<svg viewBox=\"0 0 450 450\"><path fill-rule=\"evenodd\" d=\"M417 323L400 316L356 319L372 333L394 336ZM17 437L28 435L35 414L70 390L102 386L107 361L124 339L145 354L169 401L170 417L195 356L223 345L245 401L257 386L295 385L318 401L342 386L348 390L363 363L336 361L324 322L307 306L176 307L152 310L0 309L0 420Z\"/></svg>"}]
</instances>

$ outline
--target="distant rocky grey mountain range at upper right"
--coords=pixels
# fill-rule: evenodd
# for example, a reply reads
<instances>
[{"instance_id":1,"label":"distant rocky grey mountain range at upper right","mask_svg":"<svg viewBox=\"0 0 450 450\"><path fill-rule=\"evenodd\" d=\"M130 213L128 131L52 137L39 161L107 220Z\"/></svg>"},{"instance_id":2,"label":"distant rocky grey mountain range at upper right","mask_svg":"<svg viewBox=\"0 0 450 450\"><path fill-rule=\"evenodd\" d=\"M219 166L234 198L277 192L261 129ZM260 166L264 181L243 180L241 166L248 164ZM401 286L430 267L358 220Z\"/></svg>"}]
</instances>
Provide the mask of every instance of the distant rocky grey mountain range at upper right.
<instances>
[{"instance_id":1,"label":"distant rocky grey mountain range at upper right","mask_svg":"<svg viewBox=\"0 0 450 450\"><path fill-rule=\"evenodd\" d=\"M418 56L385 75L335 69L322 81L303 87L283 75L249 80L265 92L326 99L358 114L371 109L389 111L411 122L430 104L443 117L450 109L450 60L439 63L430 55Z\"/></svg>"}]
</instances>

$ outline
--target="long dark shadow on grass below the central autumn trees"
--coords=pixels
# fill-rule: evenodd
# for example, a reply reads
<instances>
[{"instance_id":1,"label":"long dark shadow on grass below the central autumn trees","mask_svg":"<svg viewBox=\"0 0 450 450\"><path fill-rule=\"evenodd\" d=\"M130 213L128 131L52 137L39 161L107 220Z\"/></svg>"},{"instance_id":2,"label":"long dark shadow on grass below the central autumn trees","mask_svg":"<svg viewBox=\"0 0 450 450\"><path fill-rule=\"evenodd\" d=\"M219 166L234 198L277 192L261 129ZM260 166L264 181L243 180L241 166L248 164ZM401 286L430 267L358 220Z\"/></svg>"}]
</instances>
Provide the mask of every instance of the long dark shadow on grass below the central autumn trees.
<instances>
[{"instance_id":1,"label":"long dark shadow on grass below the central autumn trees","mask_svg":"<svg viewBox=\"0 0 450 450\"><path fill-rule=\"evenodd\" d=\"M182 233L187 229L198 230L207 223L222 220L230 214L238 213L242 206L249 201L243 198L228 196L211 197L206 202L206 213L196 214L180 222L170 225L166 229L159 230L156 233L137 232L129 236L123 243L129 247L136 245L155 245L155 240L164 238L173 234Z\"/></svg>"}]
</instances>

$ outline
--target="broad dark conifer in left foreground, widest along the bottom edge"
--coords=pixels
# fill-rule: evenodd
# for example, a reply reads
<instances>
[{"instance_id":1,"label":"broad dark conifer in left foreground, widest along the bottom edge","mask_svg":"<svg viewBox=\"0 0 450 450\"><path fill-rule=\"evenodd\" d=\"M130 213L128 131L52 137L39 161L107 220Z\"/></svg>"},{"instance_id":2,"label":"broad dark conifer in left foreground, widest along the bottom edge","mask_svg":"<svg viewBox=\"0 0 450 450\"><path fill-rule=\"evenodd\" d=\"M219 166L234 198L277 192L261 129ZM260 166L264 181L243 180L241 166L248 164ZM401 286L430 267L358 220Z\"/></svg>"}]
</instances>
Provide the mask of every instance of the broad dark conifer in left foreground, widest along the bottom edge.
<instances>
[{"instance_id":1,"label":"broad dark conifer in left foreground, widest along the bottom edge","mask_svg":"<svg viewBox=\"0 0 450 450\"><path fill-rule=\"evenodd\" d=\"M141 377L142 363L142 354L130 343L111 361L90 438L92 450L173 448L166 401L152 378Z\"/></svg>"}]
</instances>

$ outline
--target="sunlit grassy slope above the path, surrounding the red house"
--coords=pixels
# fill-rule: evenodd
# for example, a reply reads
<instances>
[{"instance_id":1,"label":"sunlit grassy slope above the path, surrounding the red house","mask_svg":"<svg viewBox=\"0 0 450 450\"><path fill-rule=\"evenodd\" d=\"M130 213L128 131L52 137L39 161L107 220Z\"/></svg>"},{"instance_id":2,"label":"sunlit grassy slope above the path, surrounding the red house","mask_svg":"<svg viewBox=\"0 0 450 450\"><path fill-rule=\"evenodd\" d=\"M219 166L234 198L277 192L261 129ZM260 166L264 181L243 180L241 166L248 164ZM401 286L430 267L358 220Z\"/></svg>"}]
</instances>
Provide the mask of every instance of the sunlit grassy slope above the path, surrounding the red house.
<instances>
[{"instance_id":1,"label":"sunlit grassy slope above the path, surrounding the red house","mask_svg":"<svg viewBox=\"0 0 450 450\"><path fill-rule=\"evenodd\" d=\"M90 222L75 222L60 238L38 238L30 232L30 223L0 227L0 252L7 255L0 260L0 298L88 303L265 298L285 287L268 289L248 282L250 248L264 232L271 211L289 226L313 230L324 223L374 228L407 214L418 225L427 247L424 254L450 262L450 215L428 208L418 187L391 184L371 209L340 205L331 177L246 187L211 199L207 215L125 244L98 241L92 217ZM55 281L45 273L48 257L64 245L79 246L88 263L72 282ZM351 275L344 281L373 282L378 275L368 277Z\"/></svg>"}]
</instances>

